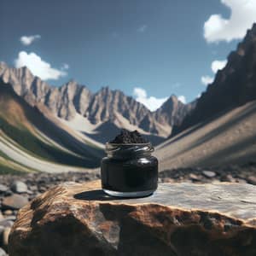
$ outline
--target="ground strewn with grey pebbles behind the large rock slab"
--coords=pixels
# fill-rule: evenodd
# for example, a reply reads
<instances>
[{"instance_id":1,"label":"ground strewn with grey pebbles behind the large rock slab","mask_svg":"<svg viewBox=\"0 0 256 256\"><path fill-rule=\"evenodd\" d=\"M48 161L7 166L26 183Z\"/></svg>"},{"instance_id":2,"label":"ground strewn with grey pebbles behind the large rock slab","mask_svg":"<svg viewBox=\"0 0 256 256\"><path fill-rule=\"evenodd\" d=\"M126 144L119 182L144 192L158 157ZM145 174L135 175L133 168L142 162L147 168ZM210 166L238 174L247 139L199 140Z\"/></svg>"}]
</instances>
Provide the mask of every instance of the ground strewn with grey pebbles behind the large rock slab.
<instances>
[{"instance_id":1,"label":"ground strewn with grey pebbles behind the large rock slab","mask_svg":"<svg viewBox=\"0 0 256 256\"><path fill-rule=\"evenodd\" d=\"M0 247L3 247L3 231L6 240L20 207L26 205L50 187L68 181L84 183L99 178L99 172L65 172L61 174L28 173L25 176L0 176ZM248 182L256 185L256 163L254 166L218 168L179 168L159 173L160 182L165 183L213 183L213 182ZM20 195L22 194L22 195ZM3 221L3 222L2 222ZM6 230L7 229L7 230ZM9 230L8 230L9 229ZM7 241L5 241L7 242ZM3 247L6 250L6 246ZM7 254L3 254L4 256ZM0 251L0 256L2 256Z\"/></svg>"}]
</instances>

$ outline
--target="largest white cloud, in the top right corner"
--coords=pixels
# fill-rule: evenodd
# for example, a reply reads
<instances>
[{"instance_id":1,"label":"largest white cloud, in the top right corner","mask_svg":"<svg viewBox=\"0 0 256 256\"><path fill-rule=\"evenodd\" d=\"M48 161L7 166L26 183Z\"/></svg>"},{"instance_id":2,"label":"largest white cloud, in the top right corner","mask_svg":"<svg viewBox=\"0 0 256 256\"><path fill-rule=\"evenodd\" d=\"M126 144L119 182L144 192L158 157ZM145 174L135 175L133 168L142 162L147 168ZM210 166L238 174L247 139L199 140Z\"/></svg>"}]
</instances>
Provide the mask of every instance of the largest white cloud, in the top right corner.
<instances>
[{"instance_id":1,"label":"largest white cloud, in the top right corner","mask_svg":"<svg viewBox=\"0 0 256 256\"><path fill-rule=\"evenodd\" d=\"M208 43L241 39L256 21L256 0L221 0L231 10L229 19L211 15L204 24L204 37Z\"/></svg>"}]
</instances>

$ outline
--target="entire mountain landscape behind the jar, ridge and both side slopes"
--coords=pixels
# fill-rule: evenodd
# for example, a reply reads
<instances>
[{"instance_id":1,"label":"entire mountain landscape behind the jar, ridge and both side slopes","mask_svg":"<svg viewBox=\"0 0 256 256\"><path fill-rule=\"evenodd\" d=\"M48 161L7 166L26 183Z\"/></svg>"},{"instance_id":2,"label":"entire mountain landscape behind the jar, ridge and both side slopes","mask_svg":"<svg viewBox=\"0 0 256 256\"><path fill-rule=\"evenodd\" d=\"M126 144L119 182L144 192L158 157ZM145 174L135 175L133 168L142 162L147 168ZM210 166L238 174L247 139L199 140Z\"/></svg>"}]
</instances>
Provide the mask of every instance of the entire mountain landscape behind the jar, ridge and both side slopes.
<instances>
[{"instance_id":1,"label":"entire mountain landscape behind the jar, ridge and both side slopes","mask_svg":"<svg viewBox=\"0 0 256 256\"><path fill-rule=\"evenodd\" d=\"M256 25L212 84L189 104L170 96L151 112L120 90L47 84L0 62L0 169L62 172L100 165L120 128L156 146L160 170L256 159Z\"/></svg>"}]
</instances>

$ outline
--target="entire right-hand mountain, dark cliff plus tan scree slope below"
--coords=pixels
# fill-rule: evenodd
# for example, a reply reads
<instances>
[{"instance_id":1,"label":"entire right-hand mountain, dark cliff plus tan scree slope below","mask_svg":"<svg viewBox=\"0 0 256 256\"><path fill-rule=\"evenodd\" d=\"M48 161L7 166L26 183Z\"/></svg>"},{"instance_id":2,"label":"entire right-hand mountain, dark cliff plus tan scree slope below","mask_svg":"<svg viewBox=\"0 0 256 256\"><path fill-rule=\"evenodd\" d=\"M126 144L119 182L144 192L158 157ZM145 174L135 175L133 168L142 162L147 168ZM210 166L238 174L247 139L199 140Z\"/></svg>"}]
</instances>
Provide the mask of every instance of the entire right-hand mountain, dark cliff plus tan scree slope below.
<instances>
[{"instance_id":1,"label":"entire right-hand mountain, dark cliff plus tan scree slope below","mask_svg":"<svg viewBox=\"0 0 256 256\"><path fill-rule=\"evenodd\" d=\"M160 169L255 162L256 24L156 152Z\"/></svg>"}]
</instances>

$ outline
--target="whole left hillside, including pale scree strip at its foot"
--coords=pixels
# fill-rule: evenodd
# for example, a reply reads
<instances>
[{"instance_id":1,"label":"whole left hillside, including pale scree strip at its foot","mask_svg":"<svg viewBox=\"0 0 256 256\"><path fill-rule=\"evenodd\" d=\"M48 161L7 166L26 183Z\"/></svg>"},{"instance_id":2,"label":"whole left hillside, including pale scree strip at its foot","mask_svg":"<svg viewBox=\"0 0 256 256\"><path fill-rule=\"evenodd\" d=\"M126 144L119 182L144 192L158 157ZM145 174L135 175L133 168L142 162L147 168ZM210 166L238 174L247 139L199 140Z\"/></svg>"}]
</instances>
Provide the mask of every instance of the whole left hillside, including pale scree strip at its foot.
<instances>
[{"instance_id":1,"label":"whole left hillside, including pale scree strip at its foot","mask_svg":"<svg viewBox=\"0 0 256 256\"><path fill-rule=\"evenodd\" d=\"M20 169L19 164L21 164L23 166L21 169L38 170L41 169L40 164L31 164L31 162L42 160L81 168L99 166L103 154L102 148L89 138L79 137L69 131L68 127L58 123L59 121L50 113L43 115L38 107L31 107L17 96L10 84L0 81L2 165L4 162L6 167ZM16 159L18 152L20 161ZM30 156L31 161L27 158L26 163L25 157L23 163L22 155Z\"/></svg>"}]
</instances>

